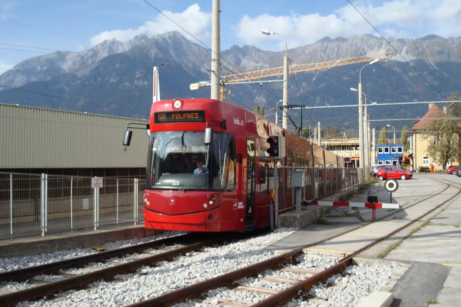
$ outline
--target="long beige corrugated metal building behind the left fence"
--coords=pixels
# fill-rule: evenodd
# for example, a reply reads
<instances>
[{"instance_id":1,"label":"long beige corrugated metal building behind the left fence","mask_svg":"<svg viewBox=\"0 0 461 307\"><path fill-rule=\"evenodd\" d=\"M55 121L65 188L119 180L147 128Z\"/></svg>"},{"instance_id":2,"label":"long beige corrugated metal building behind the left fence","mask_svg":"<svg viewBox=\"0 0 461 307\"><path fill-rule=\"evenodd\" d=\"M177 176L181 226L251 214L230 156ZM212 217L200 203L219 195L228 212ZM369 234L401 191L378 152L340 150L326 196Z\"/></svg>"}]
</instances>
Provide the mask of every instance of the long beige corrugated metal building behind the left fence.
<instances>
[{"instance_id":1,"label":"long beige corrugated metal building behind the left fence","mask_svg":"<svg viewBox=\"0 0 461 307\"><path fill-rule=\"evenodd\" d=\"M0 104L0 171L144 177L148 137L128 123L147 120Z\"/></svg>"}]
</instances>

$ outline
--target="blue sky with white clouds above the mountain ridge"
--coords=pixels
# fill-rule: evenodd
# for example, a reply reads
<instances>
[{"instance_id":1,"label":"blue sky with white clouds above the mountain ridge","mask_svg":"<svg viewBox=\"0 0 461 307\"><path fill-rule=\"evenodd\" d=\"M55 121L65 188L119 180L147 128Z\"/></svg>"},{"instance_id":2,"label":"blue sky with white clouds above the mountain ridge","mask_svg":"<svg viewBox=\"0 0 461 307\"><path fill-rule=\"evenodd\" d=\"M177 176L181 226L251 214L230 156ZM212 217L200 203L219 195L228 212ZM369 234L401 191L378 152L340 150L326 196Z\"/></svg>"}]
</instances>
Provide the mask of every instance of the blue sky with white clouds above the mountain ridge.
<instances>
[{"instance_id":1,"label":"blue sky with white clouds above the mountain ridge","mask_svg":"<svg viewBox=\"0 0 461 307\"><path fill-rule=\"evenodd\" d=\"M148 1L162 11L173 12L173 15L167 14L210 45L211 0ZM262 35L262 28L282 33L290 48L324 36L375 34L346 0L221 2L222 50L233 44L281 50L280 37ZM362 0L353 3L386 36L461 35L460 0ZM159 18L157 11L143 0L0 0L0 43L78 51L105 38L127 40L143 32L156 34L173 29L178 28ZM27 49L6 45L0 48ZM0 68L10 68L39 55L0 49Z\"/></svg>"}]
</instances>

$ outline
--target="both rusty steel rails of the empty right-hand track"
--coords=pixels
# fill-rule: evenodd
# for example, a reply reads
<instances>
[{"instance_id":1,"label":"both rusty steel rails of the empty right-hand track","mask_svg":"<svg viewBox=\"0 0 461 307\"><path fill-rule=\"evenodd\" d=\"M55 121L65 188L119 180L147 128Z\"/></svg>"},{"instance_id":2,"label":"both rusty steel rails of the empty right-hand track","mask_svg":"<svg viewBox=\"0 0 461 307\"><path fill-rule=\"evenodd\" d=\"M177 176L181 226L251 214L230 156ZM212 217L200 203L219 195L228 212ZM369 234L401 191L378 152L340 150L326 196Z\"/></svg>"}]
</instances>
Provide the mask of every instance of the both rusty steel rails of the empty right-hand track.
<instances>
[{"instance_id":1,"label":"both rusty steel rails of the empty right-hand track","mask_svg":"<svg viewBox=\"0 0 461 307\"><path fill-rule=\"evenodd\" d=\"M389 216L392 216L394 214L397 214L401 211L403 211L404 209L407 209L409 207L412 207L416 204L419 204L431 197L434 197L438 194L440 194L441 192L447 190L450 186L446 183L444 183L445 185L447 185L446 188L444 188L442 191L437 191L436 193L437 194L434 194L434 195L429 195L428 197L414 203L414 204L411 204L405 208L401 208L401 209L398 209L396 210L395 212L392 212L388 215L385 215L383 217L380 217L379 219L377 219L376 221L380 221L380 220L383 220L383 219L386 219L388 218ZM458 192L458 194L460 194L460 192ZM456 196L456 195L455 195ZM455 197L453 196L453 197ZM453 198L452 197L452 198ZM450 199L449 199L450 200ZM448 200L447 200L448 201ZM437 207L440 207L442 204L440 204L439 206ZM437 208L436 207L436 208ZM433 210L435 210L436 208L432 209L430 212L432 212ZM426 214L429 214L430 212L426 213ZM418 219L421 219L423 216L419 217ZM417 220L413 221L412 223L416 222ZM127 307L166 307L166 306L172 306L173 304L176 304L176 303L180 303L180 302L183 302L187 299L190 299L190 298L196 298L196 297L201 297L203 296L202 293L208 291L208 290L212 290L212 289L216 289L216 288L219 288L219 287L222 287L222 286L233 286L236 284L236 282L240 279L244 279L244 278L248 278L248 277L251 277L251 276L254 276L256 274L259 274L260 272L263 272L265 270L268 270L268 269L273 269L275 267L280 267L282 266L283 264L285 263L293 263L296 261L296 256L301 254L303 252L303 249L305 248L309 248L309 247L312 247L312 246L315 246L315 245L318 245L318 244L321 244L323 242L326 242L326 241L329 241L329 240L332 240L334 238L337 238L337 237L340 237L346 233L349 233L351 231L354 231L354 230L357 230L359 228L362 228L362 227L365 227L369 224L371 224L373 222L368 222L368 223L360 223L357 227L353 227L352 229L348 229L344 232L341 232L339 234L336 234L336 235L333 235L333 236L330 236L328 238L324 238L322 240L319 240L317 242L314 242L314 243L311 243L311 244L307 244L307 245L304 245L300 248L297 248L293 251L288 251L286 253L283 253L279 256L276 256L276 257L273 257L273 258L270 258L270 259L267 259L267 260L264 260L264 261L261 261L261 262L258 262L258 263L255 263L253 265L250 265L250 266L247 266L245 268L241 268L239 270L236 270L236 271L232 271L232 272L229 272L229 273L226 273L226 274L223 274L221 276L218 276L218 277L215 277L215 278L212 278L212 279L208 279L208 280L205 280L205 281L202 281L202 282L199 282L199 283L195 283L195 284L192 284L190 286L187 286L187 287L183 287L183 288L180 288L180 289L177 289L177 290L174 290L174 291L171 291L171 292L168 292L168 293L165 293L165 294L162 294L160 296L157 296L157 297L154 297L154 298L151 298L151 299L148 299L148 300L145 300L145 301L142 301L142 302L139 302L139 303L135 303L135 304L132 304L132 305L129 305ZM410 224L407 224L405 227L409 226ZM403 228L400 228L398 229L396 232L398 231L401 231ZM391 233L390 235L388 236L392 236L393 234ZM386 238L383 238L382 240L385 240ZM382 241L381 240L381 241ZM379 241L380 242L380 241ZM377 244L379 242L375 242L374 244ZM370 246L371 247L371 246ZM368 248L370 248L368 247ZM367 249L368 249L367 248ZM360 251L361 252L361 251ZM347 259L350 258L352 259L352 256L348 256L346 257ZM345 259L346 259L345 258ZM341 260L342 262L345 262L346 260L343 259ZM351 261L351 260L350 260ZM346 261L347 262L347 261ZM347 262L348 263L348 262ZM346 267L347 265L345 265L344 267ZM331 271L334 271L335 270L335 267L336 266L333 266L329 269L327 269L326 271L323 271L323 272L331 272ZM323 273L321 272L321 273ZM307 280L311 280L311 282L314 282L313 284L315 284L315 280L314 278L319 279L321 278L322 276L319 275L321 273L318 273L316 275L314 275L312 278L310 279L306 279L305 281ZM334 275L334 274L332 274ZM302 281L304 282L304 281ZM298 283L298 284L301 284ZM296 285L298 285L296 284ZM295 285L295 286L296 286ZM290 289L290 288L288 288ZM294 297L297 297L297 291L296 290L294 293L295 295L293 296ZM282 291L283 292L283 291ZM282 293L280 292L280 293ZM279 294L280 294L279 293ZM279 295L279 294L275 294L274 296L276 295ZM291 294L291 292L290 292ZM271 296L269 299L273 298L274 296ZM290 301L291 298L288 300ZM266 302L269 302L269 304L271 304L271 301L263 301L264 303ZM273 303L272 303L273 304ZM259 303L257 304L258 306L269 306L267 304L262 304ZM254 305L254 306L257 306L257 305Z\"/></svg>"}]
</instances>

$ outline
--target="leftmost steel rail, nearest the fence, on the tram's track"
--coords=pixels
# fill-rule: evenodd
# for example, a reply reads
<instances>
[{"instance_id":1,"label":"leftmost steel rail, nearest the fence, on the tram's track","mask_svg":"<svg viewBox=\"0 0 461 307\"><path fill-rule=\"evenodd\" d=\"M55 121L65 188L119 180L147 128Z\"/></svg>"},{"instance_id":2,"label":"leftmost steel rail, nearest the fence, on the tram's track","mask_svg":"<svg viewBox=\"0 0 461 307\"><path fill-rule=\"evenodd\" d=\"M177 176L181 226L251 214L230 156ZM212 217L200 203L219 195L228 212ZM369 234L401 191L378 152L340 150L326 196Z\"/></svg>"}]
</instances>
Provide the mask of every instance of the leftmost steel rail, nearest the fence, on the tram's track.
<instances>
[{"instance_id":1,"label":"leftmost steel rail, nearest the fence, on the tram's track","mask_svg":"<svg viewBox=\"0 0 461 307\"><path fill-rule=\"evenodd\" d=\"M138 245L133 245L117 250L112 251L102 251L98 253L93 253L90 255L76 257L72 259L66 259L62 261L51 262L42 265L36 265L33 267L23 268L14 271L8 271L0 274L0 282L8 281L26 281L34 276L41 274L51 274L59 272L60 270L70 269L70 268L79 268L90 262L102 262L104 260L126 255L134 252L144 251L149 248L159 246L162 244L172 244L184 242L187 240L193 240L197 237L195 233L187 233L179 236L164 238L156 241L150 241Z\"/></svg>"}]
</instances>

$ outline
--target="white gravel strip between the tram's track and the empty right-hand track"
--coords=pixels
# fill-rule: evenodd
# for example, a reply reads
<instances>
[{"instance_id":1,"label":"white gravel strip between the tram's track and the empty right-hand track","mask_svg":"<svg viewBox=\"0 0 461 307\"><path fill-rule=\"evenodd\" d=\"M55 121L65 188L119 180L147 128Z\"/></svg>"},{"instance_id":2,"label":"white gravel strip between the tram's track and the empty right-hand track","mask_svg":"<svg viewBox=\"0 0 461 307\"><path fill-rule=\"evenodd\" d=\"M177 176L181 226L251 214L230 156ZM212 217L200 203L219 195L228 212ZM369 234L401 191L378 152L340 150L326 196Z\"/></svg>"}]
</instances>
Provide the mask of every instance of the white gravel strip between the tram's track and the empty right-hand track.
<instances>
[{"instance_id":1,"label":"white gravel strip between the tram's track and the empty right-hand track","mask_svg":"<svg viewBox=\"0 0 461 307\"><path fill-rule=\"evenodd\" d=\"M60 294L67 300L58 302L24 302L17 306L88 306L118 307L156 297L206 279L237 270L274 257L272 251L261 250L268 243L280 240L293 229L279 228L274 232L256 238L241 240L225 246L204 248L201 252L190 252L177 257L176 261L162 261L156 267L143 267L146 275L126 274L116 279L122 282L94 282L91 290L67 291Z\"/></svg>"}]
</instances>

